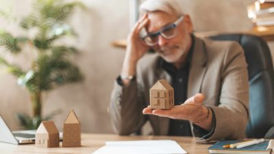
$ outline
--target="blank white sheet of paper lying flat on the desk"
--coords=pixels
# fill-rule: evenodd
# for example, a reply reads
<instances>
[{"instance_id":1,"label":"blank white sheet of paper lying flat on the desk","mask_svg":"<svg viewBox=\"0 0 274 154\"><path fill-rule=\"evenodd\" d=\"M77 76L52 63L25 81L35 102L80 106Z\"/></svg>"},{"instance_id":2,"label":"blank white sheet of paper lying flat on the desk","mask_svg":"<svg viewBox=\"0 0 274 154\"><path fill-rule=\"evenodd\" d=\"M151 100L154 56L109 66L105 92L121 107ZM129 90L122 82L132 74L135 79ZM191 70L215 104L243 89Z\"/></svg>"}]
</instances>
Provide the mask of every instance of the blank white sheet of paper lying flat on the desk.
<instances>
[{"instance_id":1,"label":"blank white sheet of paper lying flat on the desk","mask_svg":"<svg viewBox=\"0 0 274 154\"><path fill-rule=\"evenodd\" d=\"M105 142L92 154L169 154L186 153L174 140L138 140Z\"/></svg>"}]
</instances>

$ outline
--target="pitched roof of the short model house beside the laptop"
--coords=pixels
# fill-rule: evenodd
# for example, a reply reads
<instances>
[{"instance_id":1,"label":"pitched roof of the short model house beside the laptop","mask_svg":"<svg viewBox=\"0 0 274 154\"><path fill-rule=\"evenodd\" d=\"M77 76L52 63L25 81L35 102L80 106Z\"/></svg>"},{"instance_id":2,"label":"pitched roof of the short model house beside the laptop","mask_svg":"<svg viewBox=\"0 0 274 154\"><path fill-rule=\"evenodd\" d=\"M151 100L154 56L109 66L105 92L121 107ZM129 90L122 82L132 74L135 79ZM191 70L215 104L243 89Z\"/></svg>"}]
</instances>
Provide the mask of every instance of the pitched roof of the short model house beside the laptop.
<instances>
[{"instance_id":1,"label":"pitched roof of the short model house beside the laptop","mask_svg":"<svg viewBox=\"0 0 274 154\"><path fill-rule=\"evenodd\" d=\"M53 121L42 121L36 133L59 133Z\"/></svg>"}]
</instances>

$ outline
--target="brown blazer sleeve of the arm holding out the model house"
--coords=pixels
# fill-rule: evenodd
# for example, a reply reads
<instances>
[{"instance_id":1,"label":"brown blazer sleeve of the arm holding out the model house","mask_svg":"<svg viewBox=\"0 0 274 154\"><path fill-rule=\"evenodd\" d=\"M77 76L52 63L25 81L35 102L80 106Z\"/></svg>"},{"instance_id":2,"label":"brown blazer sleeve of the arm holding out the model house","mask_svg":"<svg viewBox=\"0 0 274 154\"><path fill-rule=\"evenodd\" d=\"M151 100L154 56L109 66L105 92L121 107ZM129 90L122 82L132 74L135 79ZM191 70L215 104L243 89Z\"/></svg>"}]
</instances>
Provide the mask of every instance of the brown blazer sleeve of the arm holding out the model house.
<instances>
[{"instance_id":1,"label":"brown blazer sleeve of the arm holding out the model house","mask_svg":"<svg viewBox=\"0 0 274 154\"><path fill-rule=\"evenodd\" d=\"M201 141L245 138L249 118L249 79L247 63L240 44L227 45L221 68L221 90L218 106L210 106L216 123L212 136Z\"/></svg>"}]
</instances>

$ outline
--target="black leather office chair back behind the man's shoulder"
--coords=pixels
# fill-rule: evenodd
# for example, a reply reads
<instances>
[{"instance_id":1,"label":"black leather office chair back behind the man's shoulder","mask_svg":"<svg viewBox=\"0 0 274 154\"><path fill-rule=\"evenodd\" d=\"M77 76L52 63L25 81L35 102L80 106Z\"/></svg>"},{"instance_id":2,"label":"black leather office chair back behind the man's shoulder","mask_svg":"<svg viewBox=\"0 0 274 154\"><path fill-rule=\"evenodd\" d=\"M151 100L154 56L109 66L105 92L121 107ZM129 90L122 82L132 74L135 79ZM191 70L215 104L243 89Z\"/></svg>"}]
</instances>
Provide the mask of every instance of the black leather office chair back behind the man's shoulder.
<instances>
[{"instance_id":1,"label":"black leather office chair back behind the man's shoulder","mask_svg":"<svg viewBox=\"0 0 274 154\"><path fill-rule=\"evenodd\" d=\"M245 51L249 74L247 138L274 138L274 71L266 42L247 34L220 34L213 40L234 40Z\"/></svg>"}]
</instances>

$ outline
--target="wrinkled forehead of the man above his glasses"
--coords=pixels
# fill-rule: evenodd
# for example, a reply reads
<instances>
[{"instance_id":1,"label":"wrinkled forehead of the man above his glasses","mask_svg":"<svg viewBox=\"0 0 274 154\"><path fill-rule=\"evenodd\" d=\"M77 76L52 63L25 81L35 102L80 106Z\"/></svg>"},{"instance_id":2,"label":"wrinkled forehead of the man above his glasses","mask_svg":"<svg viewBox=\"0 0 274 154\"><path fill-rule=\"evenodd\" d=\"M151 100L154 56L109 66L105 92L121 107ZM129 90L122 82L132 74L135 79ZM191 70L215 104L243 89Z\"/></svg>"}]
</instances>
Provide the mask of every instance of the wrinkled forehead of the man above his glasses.
<instances>
[{"instance_id":1,"label":"wrinkled forehead of the man above his glasses","mask_svg":"<svg viewBox=\"0 0 274 154\"><path fill-rule=\"evenodd\" d=\"M146 29L148 33L158 31L166 25L174 23L177 20L177 15L167 14L166 12L155 11L148 12L149 24Z\"/></svg>"}]
</instances>

